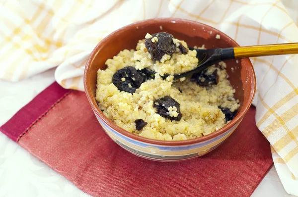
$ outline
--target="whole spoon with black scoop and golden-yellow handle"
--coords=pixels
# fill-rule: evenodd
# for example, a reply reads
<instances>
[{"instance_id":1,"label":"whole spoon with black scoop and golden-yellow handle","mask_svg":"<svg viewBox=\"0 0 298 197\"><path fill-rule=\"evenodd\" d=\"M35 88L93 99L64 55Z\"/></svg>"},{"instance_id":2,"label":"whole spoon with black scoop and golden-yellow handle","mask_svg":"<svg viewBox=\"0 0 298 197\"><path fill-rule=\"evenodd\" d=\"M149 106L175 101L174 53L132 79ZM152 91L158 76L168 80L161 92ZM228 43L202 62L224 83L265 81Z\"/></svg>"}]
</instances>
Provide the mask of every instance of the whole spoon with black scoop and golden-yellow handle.
<instances>
[{"instance_id":1,"label":"whole spoon with black scoop and golden-yellow handle","mask_svg":"<svg viewBox=\"0 0 298 197\"><path fill-rule=\"evenodd\" d=\"M190 48L194 50L194 48ZM199 73L206 68L228 59L242 59L248 57L270 56L270 55L285 55L297 54L298 43L274 44L274 45L258 45L247 47L232 47L218 49L195 49L197 58L199 59L198 67L193 70L174 74L174 79L190 76L194 73ZM169 76L165 74L164 77Z\"/></svg>"}]
</instances>

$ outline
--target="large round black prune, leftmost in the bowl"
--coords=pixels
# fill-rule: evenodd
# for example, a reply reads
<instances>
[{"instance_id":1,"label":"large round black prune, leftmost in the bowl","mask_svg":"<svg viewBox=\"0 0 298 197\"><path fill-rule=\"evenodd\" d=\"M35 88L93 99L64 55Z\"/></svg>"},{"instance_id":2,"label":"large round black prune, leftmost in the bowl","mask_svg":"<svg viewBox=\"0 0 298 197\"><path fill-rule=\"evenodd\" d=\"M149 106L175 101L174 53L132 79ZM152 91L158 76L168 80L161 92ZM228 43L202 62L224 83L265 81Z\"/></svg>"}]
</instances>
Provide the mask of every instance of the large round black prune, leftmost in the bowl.
<instances>
[{"instance_id":1,"label":"large round black prune, leftmost in the bowl","mask_svg":"<svg viewBox=\"0 0 298 197\"><path fill-rule=\"evenodd\" d=\"M140 88L146 77L132 66L124 67L113 75L112 82L119 91L135 93Z\"/></svg>"}]
</instances>

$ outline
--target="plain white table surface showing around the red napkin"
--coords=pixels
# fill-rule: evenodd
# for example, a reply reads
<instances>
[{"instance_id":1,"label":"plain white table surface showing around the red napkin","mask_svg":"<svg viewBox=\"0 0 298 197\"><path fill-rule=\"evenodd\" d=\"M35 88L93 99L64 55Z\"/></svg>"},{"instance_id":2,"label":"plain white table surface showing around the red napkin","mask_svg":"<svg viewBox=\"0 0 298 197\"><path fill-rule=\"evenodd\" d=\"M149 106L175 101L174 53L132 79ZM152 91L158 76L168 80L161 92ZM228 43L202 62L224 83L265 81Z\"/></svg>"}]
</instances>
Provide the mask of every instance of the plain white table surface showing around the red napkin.
<instances>
[{"instance_id":1,"label":"plain white table surface showing around the red napkin","mask_svg":"<svg viewBox=\"0 0 298 197\"><path fill-rule=\"evenodd\" d=\"M12 83L0 80L0 125L54 82L54 69ZM293 197L273 167L252 197ZM69 180L0 133L0 197L89 197Z\"/></svg>"}]
</instances>

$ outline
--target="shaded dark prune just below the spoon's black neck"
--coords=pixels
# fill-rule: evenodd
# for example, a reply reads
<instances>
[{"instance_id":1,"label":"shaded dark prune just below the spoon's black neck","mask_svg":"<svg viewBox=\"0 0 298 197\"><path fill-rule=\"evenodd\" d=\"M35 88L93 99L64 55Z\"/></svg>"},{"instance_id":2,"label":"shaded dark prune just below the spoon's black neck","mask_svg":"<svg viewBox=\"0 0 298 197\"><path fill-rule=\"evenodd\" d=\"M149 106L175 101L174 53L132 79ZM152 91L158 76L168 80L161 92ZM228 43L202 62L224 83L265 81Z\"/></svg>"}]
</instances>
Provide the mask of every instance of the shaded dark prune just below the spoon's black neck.
<instances>
[{"instance_id":1,"label":"shaded dark prune just below the spoon's black neck","mask_svg":"<svg viewBox=\"0 0 298 197\"><path fill-rule=\"evenodd\" d=\"M190 81L197 82L200 86L212 86L218 84L218 70L216 69L212 74L207 74L207 70L192 75Z\"/></svg>"}]
</instances>

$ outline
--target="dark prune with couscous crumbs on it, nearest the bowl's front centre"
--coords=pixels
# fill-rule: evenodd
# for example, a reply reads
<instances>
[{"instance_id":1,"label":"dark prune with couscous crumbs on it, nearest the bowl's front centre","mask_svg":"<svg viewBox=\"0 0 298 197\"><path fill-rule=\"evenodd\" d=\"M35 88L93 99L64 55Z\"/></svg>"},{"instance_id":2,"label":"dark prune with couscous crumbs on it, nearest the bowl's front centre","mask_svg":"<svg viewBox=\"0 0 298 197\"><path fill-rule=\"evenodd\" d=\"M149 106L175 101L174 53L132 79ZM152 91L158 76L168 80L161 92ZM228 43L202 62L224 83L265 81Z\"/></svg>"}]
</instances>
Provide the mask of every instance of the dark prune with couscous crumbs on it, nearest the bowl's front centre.
<instances>
[{"instance_id":1,"label":"dark prune with couscous crumbs on it, nearest the bowl's front centre","mask_svg":"<svg viewBox=\"0 0 298 197\"><path fill-rule=\"evenodd\" d=\"M181 120L182 113L180 112L180 104L175 99L170 96L165 96L161 99L157 99L153 102L153 107L156 108L156 111L159 115L169 120L179 121ZM176 112L178 113L177 117L170 116L169 107L176 107Z\"/></svg>"}]
</instances>

